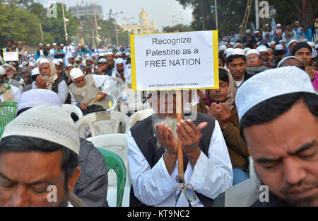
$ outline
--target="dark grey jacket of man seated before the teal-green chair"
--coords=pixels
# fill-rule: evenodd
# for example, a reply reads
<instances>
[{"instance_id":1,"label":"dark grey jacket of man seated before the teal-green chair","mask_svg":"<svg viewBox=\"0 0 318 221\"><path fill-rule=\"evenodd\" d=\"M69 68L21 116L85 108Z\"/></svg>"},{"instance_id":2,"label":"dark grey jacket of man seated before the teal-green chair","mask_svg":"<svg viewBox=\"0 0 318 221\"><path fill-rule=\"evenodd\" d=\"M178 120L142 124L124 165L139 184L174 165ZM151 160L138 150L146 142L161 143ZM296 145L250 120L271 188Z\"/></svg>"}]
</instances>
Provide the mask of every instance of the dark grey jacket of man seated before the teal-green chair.
<instances>
[{"instance_id":1,"label":"dark grey jacket of man seated before the teal-green chair","mask_svg":"<svg viewBox=\"0 0 318 221\"><path fill-rule=\"evenodd\" d=\"M73 193L86 205L105 207L107 203L107 166L102 154L94 145L80 137L79 164L81 175Z\"/></svg>"}]
</instances>

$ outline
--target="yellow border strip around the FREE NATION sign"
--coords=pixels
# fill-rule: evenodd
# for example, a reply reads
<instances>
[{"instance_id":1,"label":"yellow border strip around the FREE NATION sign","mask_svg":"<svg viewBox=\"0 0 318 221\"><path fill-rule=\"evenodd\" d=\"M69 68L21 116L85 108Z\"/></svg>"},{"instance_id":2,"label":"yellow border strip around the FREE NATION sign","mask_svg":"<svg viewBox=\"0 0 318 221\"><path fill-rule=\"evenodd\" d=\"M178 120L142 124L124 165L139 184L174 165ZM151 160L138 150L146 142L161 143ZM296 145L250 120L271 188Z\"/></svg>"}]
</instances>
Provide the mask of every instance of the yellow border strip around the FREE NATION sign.
<instances>
[{"instance_id":1,"label":"yellow border strip around the FREE NATION sign","mask_svg":"<svg viewBox=\"0 0 318 221\"><path fill-rule=\"evenodd\" d=\"M183 33L200 33L199 32L183 32ZM213 75L213 84L214 87L194 87L194 88L184 88L184 89L147 89L147 91L166 91L166 90L191 90L191 89L218 89L219 87L219 79L218 79L218 30L210 30L210 31L204 31L204 32L211 32L212 33L212 55L213 55L213 72L211 73L211 76ZM140 84L142 83L137 79L136 76L136 42L135 42L135 36L138 35L164 35L164 34L179 34L179 33L155 33L155 34L136 34L136 35L130 35L130 42L131 42L131 89L133 91L143 91L138 89L137 90L137 83ZM137 82L139 81L139 82ZM211 85L213 85L211 84Z\"/></svg>"}]
</instances>

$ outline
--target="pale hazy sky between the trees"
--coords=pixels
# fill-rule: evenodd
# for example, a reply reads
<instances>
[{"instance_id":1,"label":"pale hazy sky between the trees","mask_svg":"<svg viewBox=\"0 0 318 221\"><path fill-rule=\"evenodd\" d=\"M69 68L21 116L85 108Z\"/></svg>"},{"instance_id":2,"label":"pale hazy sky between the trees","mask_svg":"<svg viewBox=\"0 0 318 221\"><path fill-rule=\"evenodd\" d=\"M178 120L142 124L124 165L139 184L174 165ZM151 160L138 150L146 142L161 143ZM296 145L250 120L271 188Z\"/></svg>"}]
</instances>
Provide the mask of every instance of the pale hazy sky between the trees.
<instances>
[{"instance_id":1,"label":"pale hazy sky between the trees","mask_svg":"<svg viewBox=\"0 0 318 221\"><path fill-rule=\"evenodd\" d=\"M58 0L59 1L59 0ZM82 3L83 2L83 3ZM182 6L175 0L64 0L67 6L76 6L82 4L95 3L102 6L104 19L107 18L106 13L123 12L117 16L117 23L139 24L139 13L144 8L148 13L149 23L155 21L156 28L160 31L164 26L175 26L177 23L189 25L192 22L192 8L183 9ZM131 18L128 22L124 18ZM174 21L172 23L172 21Z\"/></svg>"}]
</instances>

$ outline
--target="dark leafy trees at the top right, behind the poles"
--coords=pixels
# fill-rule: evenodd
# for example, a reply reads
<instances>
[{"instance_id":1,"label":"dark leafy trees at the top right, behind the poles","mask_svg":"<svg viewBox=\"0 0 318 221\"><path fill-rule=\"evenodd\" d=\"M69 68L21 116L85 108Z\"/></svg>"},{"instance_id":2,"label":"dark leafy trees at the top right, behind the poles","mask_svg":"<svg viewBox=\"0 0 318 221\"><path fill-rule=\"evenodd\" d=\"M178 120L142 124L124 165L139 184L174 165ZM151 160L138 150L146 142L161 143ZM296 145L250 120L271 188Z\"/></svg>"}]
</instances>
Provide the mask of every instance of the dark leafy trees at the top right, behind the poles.
<instances>
[{"instance_id":1,"label":"dark leafy trees at the top right, behind the poles","mask_svg":"<svg viewBox=\"0 0 318 221\"><path fill-rule=\"evenodd\" d=\"M210 7L214 5L214 0L176 0L184 8L192 7L194 21L192 22L192 28L194 30L213 30L216 28L215 15L211 14ZM218 0L218 29L219 34L233 35L240 33L240 27L242 26L245 9L247 7L247 1L243 0ZM283 26L287 23L293 23L296 20L303 23L303 27L309 26L313 21L313 16L318 11L318 1L313 0L268 0L269 5L276 9L276 15L274 16L276 23L281 23ZM303 14L303 8L306 3L305 15ZM252 4L252 10L249 14L249 23L247 27L251 27L251 24L255 24L255 10L254 1ZM269 19L260 18L260 23L270 23ZM204 27L205 26L205 27ZM261 27L263 28L263 27Z\"/></svg>"}]
</instances>

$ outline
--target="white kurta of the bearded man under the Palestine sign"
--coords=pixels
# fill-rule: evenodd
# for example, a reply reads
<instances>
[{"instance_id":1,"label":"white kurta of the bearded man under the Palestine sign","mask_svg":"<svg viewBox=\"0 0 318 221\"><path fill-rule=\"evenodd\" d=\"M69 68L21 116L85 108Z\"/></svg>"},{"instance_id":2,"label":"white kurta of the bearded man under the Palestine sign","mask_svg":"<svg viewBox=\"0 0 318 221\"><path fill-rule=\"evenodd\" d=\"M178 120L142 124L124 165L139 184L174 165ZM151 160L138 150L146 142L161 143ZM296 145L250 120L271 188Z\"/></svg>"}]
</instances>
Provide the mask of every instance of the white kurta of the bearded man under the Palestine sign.
<instances>
[{"instance_id":1,"label":"white kurta of the bearded man under the Palestine sign","mask_svg":"<svg viewBox=\"0 0 318 221\"><path fill-rule=\"evenodd\" d=\"M176 189L179 183L175 181L178 174L177 163L171 175L167 172L163 157L151 168L130 131L127 135L127 142L129 172L136 198L146 205L175 206L175 195L176 192L179 192ZM228 148L216 120L208 157L201 152L194 167L188 162L187 170L184 172L184 180L186 184L192 184L194 191L214 199L232 186L232 178L232 164ZM197 196L196 200L192 198L192 188L189 186L187 187L187 196L192 200L192 206L203 206ZM189 206L183 192L177 206Z\"/></svg>"}]
</instances>

